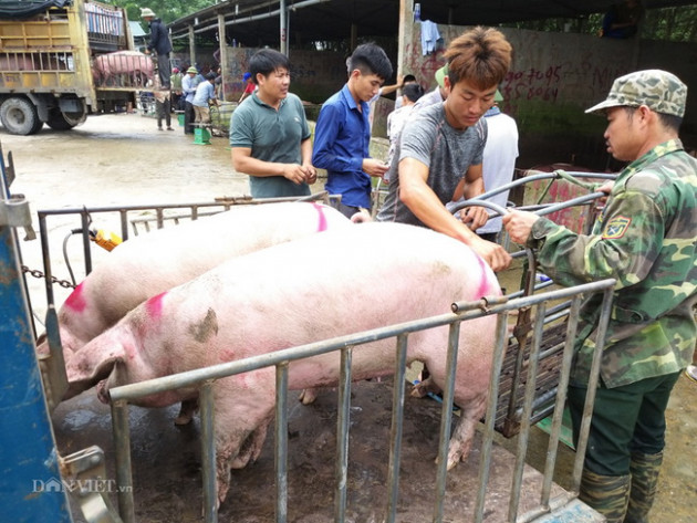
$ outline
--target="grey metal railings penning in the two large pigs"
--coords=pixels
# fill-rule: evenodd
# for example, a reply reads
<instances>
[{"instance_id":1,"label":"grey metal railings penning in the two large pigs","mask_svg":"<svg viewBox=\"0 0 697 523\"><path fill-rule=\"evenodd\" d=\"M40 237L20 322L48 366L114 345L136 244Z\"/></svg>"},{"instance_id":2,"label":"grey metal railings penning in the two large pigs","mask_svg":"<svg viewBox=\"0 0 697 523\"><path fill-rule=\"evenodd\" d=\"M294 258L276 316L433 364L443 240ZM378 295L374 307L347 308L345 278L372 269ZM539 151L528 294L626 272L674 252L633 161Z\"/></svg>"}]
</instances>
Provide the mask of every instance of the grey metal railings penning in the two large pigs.
<instances>
[{"instance_id":1,"label":"grey metal railings penning in the two large pigs","mask_svg":"<svg viewBox=\"0 0 697 523\"><path fill-rule=\"evenodd\" d=\"M584 174L586 175L586 174ZM275 200L278 201L278 200ZM49 239L46 224L46 218L58 215L79 215L81 217L82 227L80 232L83 238L83 251L85 272L89 273L92 268L91 255L91 240L90 228L91 219L93 215L101 212L117 213L121 224L121 232L124 239L127 239L133 228L134 233L138 233L142 228L148 228L150 223L155 223L160 228L171 220L173 222L179 219L190 218L196 219L198 216L202 216L205 212L219 211L229 208L231 205L249 203L250 201L222 201L222 202L206 202L194 205L175 205L175 206L142 206L142 207L128 207L128 208L100 208L100 209L65 209L58 211L40 211L39 220L41 228L42 251L44 252L44 270L46 276L46 295L49 303L53 303L52 291L52 271L51 271L51 257L49 254ZM259 203L260 201L251 201L251 203ZM266 200L264 200L266 202ZM149 209L154 211L154 216L150 218L136 218L131 219L133 211L142 211ZM189 215L180 215L181 209L188 209ZM179 212L179 213L178 213ZM341 383L339 385L339 425L336 431L336 444L340 449L339 456L334 464L335 468L335 490L334 490L334 519L335 521L344 521L346 513L346 464L348 460L347 456L347 438L348 438L348 420L351 411L351 355L356 347L362 344L374 342L384 338L395 338L395 351L397 354L397 365L395 368L395 386L393 390L393 409L392 409L392 428L391 428L391 458L389 458L389 481L388 489L391 492L389 503L384 508L385 521L397 521L397 499L399 494L399 459L402 449L402 428L404 423L403 407L404 407L404 394L406 387L405 380L405 357L408 338L412 333L435 328L438 326L449 326L451 335L448 347L448 365L449 368L455 369L455 358L457 357L457 333L462 322L479 317L486 314L498 315L498 335L497 347L495 355L495 365L492 367L491 388L489 391L489 404L485 422L485 438L481 453L481 462L479 467L479 490L476 496L476 511L471 521L483 521L483 508L487 496L487 484L489 475L489 464L491 457L491 448L493 446L493 432L497 428L497 411L501 409L501 390L500 390L500 376L501 368L506 358L507 349L509 347L509 335L507 332L509 313L521 308L534 310L534 327L532 336L529 338L529 352L524 355L524 367L527 377L520 381L524 384L524 395L518 397L517 416L519 419L519 446L516 457L516 468L511 471L511 496L508 506L507 521L513 522L528 522L528 521L542 521L550 514L561 514L562 512L571 511L573 513L573 521L595 521L594 513L584 509L584 505L575 501L578 487L581 478L581 470L583 464L583 454L586 444L586 435L590 427L590 415L585 417L583 426L582 437L579 442L578 456L574 464L573 472L573 489L570 493L562 496L551 496L552 485L552 472L554 470L556 449L559 446L559 435L562 423L563 405L565 400L565 390L569 379L569 370L571 366L572 345L575 336L578 312L583 296L586 293L603 292L603 312L601 315L601 333L599 338L603 338L603 331L606 328L606 322L608 320L608 311L612 297L612 289L614 281L607 280L603 282L596 282L586 285L580 285L576 287L555 290L537 295L520 296L520 293L509 295L502 299L496 300L482 300L476 303L458 303L452 304L452 313L441 316L423 318L415 322L409 322L400 325L385 326L383 328L360 333L351 336L344 336L340 338L323 341L301 347L289 348L274 353L272 355L266 355L257 358L249 358L246 360L233 362L229 364L218 365L215 367L193 370L189 373L183 373L180 375L168 376L166 378L154 379L150 381L144 381L139 384L128 385L111 390L112 397L112 417L114 427L114 441L116 446L116 482L118 484L118 510L121 516L125 522L135 522L135 500L133 496L133 480L131 471L131 449L129 449L129 429L128 429L128 401L159 393L163 390L180 388L184 386L198 386L200 387L200 404L201 404L201 446L202 446L202 478L204 478L204 500L205 500L205 519L207 522L218 521L217 516L217 502L216 502L216 480L215 480L215 448L212 446L212 419L215 416L211 389L216 379L231 376L239 373L246 373L268 366L275 366L277 372L277 412L275 412L275 462L277 462L277 521L287 521L288 514L288 417L284 409L288 397L288 367L290 362L311 357L319 354L325 354L332 351L341 351L342 354L342 375ZM569 301L562 311L558 307L549 306L552 302ZM552 310L553 314L548 314ZM551 393L548 395L547 401L553 405L553 423L552 435L550 438L548 449L548 461L544 470L544 480L541 492L539 493L539 505L535 510L519 514L520 504L520 484L523 474L523 468L526 466L526 451L528 446L528 435L530 427L535 420L535 416L539 415L535 410L539 407L537 379L539 370L539 362L543 360L545 356L549 356L549 351L543 348L543 338L548 330L545 325L550 322L554 322L555 318L566 315L569 320L563 327L561 339L556 343L556 348L561 355L561 368L556 376L558 385L554 386ZM49 334L51 337L51 335ZM60 344L60 341L56 341ZM360 348L357 348L360 349ZM599 347L597 354L602 352L602 347ZM62 363L62 362L60 362ZM600 367L600 358L595 357L593 366L593 381L590 384L589 389L594 390L594 385L597 380L597 369ZM452 388L454 388L454 370L450 373L447 380L446 389L443 396L443 409L441 409L441 425L440 425L440 444L439 457L440 466L438 468L437 477L435 478L436 490L436 503L434 505L433 521L444 521L444 505L443 500L446 493L446 459L447 446L449 433L451 429L451 411L452 411ZM51 387L49 387L50 389ZM61 394L49 394L49 398L60 397ZM593 402L593 394L586 398L586 412L591 412L591 406ZM506 407L509 409L509 407ZM500 430L500 429L499 429ZM569 520L571 521L571 520Z\"/></svg>"}]
</instances>

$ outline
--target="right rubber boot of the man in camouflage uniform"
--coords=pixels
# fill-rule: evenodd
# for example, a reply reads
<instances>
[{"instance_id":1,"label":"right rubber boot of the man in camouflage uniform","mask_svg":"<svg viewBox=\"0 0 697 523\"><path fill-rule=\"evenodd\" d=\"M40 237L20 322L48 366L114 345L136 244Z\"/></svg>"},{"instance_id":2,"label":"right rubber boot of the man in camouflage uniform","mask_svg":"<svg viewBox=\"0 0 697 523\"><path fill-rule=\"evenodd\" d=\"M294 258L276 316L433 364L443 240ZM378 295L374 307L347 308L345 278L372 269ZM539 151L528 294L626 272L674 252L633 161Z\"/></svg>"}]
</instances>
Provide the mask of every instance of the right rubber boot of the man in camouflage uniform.
<instances>
[{"instance_id":1,"label":"right rubber boot of the man in camouflage uniform","mask_svg":"<svg viewBox=\"0 0 697 523\"><path fill-rule=\"evenodd\" d=\"M658 472L663 462L663 452L657 454L633 453L630 463L632 490L630 505L624 523L648 523L648 511L656 498Z\"/></svg>"}]
</instances>

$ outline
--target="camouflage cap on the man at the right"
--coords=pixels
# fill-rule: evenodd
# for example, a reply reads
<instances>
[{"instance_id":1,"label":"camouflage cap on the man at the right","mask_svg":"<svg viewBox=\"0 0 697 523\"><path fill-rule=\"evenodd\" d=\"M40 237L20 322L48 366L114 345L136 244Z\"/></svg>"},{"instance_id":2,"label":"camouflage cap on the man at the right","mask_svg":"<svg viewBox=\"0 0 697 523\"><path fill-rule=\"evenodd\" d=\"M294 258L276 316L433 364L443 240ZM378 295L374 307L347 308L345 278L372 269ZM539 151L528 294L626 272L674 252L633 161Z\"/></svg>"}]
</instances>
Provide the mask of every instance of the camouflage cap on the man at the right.
<instances>
[{"instance_id":1,"label":"camouflage cap on the man at the right","mask_svg":"<svg viewBox=\"0 0 697 523\"><path fill-rule=\"evenodd\" d=\"M649 69L620 76L613 82L607 100L586 109L586 113L646 105L656 113L683 117L686 102L687 86L676 75Z\"/></svg>"}]
</instances>

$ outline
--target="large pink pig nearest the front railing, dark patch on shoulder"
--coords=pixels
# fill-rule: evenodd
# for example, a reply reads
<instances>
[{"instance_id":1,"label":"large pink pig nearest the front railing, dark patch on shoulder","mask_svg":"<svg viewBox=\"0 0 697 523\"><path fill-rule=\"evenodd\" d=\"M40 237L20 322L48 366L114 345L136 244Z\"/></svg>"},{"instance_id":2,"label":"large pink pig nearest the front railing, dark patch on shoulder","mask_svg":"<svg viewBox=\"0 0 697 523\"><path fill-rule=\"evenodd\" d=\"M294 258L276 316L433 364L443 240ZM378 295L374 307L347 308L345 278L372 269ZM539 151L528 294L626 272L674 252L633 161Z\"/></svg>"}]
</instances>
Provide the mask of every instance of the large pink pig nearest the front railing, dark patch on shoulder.
<instances>
[{"instance_id":1,"label":"large pink pig nearest the front railing, dark patch on shoulder","mask_svg":"<svg viewBox=\"0 0 697 523\"><path fill-rule=\"evenodd\" d=\"M450 312L457 301L501 294L485 261L461 242L400 223L334 229L229 260L199 278L150 297L90 342L67 364L67 396L232 362L366 330ZM486 409L495 316L460 330L455 401L462 409L450 440L448 468L467 457ZM448 328L409 336L408 362L420 360L435 386L446 379ZM295 360L289 388L336 386L340 355ZM395 341L353 351L354 380L389 375ZM273 367L214 384L218 500L230 468L258 458L273 416ZM195 398L173 390L134 401L164 407Z\"/></svg>"}]
</instances>

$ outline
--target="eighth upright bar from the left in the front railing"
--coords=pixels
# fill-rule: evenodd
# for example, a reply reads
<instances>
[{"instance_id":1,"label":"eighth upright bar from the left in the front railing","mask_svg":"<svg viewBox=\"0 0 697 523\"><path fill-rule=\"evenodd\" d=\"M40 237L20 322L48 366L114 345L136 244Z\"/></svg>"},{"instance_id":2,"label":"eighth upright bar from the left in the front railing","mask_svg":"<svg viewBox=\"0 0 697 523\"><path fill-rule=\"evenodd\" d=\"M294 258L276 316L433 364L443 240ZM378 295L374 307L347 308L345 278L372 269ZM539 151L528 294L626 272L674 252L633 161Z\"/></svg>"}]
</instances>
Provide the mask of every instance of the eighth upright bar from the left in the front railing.
<instances>
[{"instance_id":1,"label":"eighth upright bar from the left in the front railing","mask_svg":"<svg viewBox=\"0 0 697 523\"><path fill-rule=\"evenodd\" d=\"M516 470L513 472L513 484L511 485L511 498L508 509L508 521L516 522L518 514L518 504L520 501L520 490L522 487L522 474L526 466L526 453L528 452L528 440L530 439L530 416L532 414L532 400L534 399L534 387L538 376L538 356L542 342L542 333L544 327L544 305L542 302L538 305L534 321L534 334L530 346L530 356L528 358L528 381L526 383L526 397L523 416L520 423L520 435L518 439L518 451L516 454Z\"/></svg>"}]
</instances>

